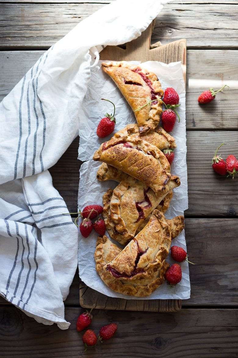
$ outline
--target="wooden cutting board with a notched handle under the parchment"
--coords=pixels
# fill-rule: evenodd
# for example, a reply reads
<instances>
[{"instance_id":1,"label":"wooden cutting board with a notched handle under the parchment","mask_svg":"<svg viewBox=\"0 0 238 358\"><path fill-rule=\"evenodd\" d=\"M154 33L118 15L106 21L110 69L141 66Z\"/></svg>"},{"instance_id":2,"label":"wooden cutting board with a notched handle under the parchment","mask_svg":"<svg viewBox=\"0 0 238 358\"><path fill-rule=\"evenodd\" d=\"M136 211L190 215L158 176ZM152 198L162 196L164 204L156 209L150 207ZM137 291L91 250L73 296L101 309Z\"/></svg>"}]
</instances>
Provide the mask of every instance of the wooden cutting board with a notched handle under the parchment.
<instances>
[{"instance_id":1,"label":"wooden cutting board with a notched handle under the parchment","mask_svg":"<svg viewBox=\"0 0 238 358\"><path fill-rule=\"evenodd\" d=\"M107 46L100 53L101 60L111 61L159 61L164 63L181 61L186 83L186 39L166 45L151 46L151 35L155 20L137 39L126 43L126 48ZM80 305L83 308L127 311L174 312L181 309L181 300L131 300L108 297L97 292L80 280Z\"/></svg>"}]
</instances>

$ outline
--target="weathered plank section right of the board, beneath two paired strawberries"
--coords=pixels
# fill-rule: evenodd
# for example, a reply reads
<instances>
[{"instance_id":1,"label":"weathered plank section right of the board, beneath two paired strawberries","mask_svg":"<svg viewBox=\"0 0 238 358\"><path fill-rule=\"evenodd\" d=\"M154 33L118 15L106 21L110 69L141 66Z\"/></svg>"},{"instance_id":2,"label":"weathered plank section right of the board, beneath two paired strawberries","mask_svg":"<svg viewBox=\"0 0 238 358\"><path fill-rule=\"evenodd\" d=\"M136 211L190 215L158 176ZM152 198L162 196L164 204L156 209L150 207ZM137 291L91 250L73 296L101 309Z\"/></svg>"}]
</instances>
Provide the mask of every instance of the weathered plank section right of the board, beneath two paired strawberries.
<instances>
[{"instance_id":1,"label":"weathered plank section right of the board, beneath two paired strawberries","mask_svg":"<svg viewBox=\"0 0 238 358\"><path fill-rule=\"evenodd\" d=\"M238 216L238 176L232 179L212 169L217 147L224 159L238 156L238 131L187 131L188 210L186 216ZM178 150L178 149L176 149ZM174 151L174 153L176 153ZM176 154L175 154L176 155Z\"/></svg>"}]
</instances>

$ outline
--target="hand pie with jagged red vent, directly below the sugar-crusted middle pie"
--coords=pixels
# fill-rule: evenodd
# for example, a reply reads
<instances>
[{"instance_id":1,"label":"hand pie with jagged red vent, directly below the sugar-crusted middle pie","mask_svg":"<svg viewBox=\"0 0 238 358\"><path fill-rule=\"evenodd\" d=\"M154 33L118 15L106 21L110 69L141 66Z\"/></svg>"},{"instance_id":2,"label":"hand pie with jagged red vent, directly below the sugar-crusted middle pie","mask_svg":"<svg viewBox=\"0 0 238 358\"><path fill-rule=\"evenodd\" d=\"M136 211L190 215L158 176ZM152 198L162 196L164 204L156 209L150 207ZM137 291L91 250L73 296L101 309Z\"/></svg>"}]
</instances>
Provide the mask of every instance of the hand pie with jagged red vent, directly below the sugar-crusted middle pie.
<instances>
[{"instance_id":1,"label":"hand pie with jagged red vent, directly below the sugar-crusted middle pie","mask_svg":"<svg viewBox=\"0 0 238 358\"><path fill-rule=\"evenodd\" d=\"M103 219L106 224L108 234L122 245L126 245L134 236L142 222L148 215L161 203L166 200L168 193L180 185L178 176L172 176L167 192L155 193L140 180L134 182L129 177L127 181L122 181L117 187L109 189L103 195ZM166 205L168 208L172 195L169 194ZM146 222L144 223L145 226Z\"/></svg>"}]
</instances>

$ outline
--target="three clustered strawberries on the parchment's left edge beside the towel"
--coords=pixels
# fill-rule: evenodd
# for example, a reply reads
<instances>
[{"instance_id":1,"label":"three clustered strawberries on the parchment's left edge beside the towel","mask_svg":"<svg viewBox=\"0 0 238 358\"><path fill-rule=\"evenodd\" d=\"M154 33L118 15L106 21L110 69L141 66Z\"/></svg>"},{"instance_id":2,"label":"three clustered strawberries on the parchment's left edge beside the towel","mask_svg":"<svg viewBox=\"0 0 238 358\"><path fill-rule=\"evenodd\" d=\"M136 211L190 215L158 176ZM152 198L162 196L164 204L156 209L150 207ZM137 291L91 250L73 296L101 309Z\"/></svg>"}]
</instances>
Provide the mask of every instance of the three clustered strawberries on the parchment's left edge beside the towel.
<instances>
[{"instance_id":1,"label":"three clustered strawberries on the parchment's left edge beside the towel","mask_svg":"<svg viewBox=\"0 0 238 358\"><path fill-rule=\"evenodd\" d=\"M79 226L83 237L88 237L91 234L92 229L94 229L101 236L105 234L105 222L101 217L99 217L102 212L103 207L97 204L87 205L83 211L79 211L79 216L75 219L75 224L78 218L81 217L83 219ZM95 218L96 220L93 222L92 220Z\"/></svg>"}]
</instances>

